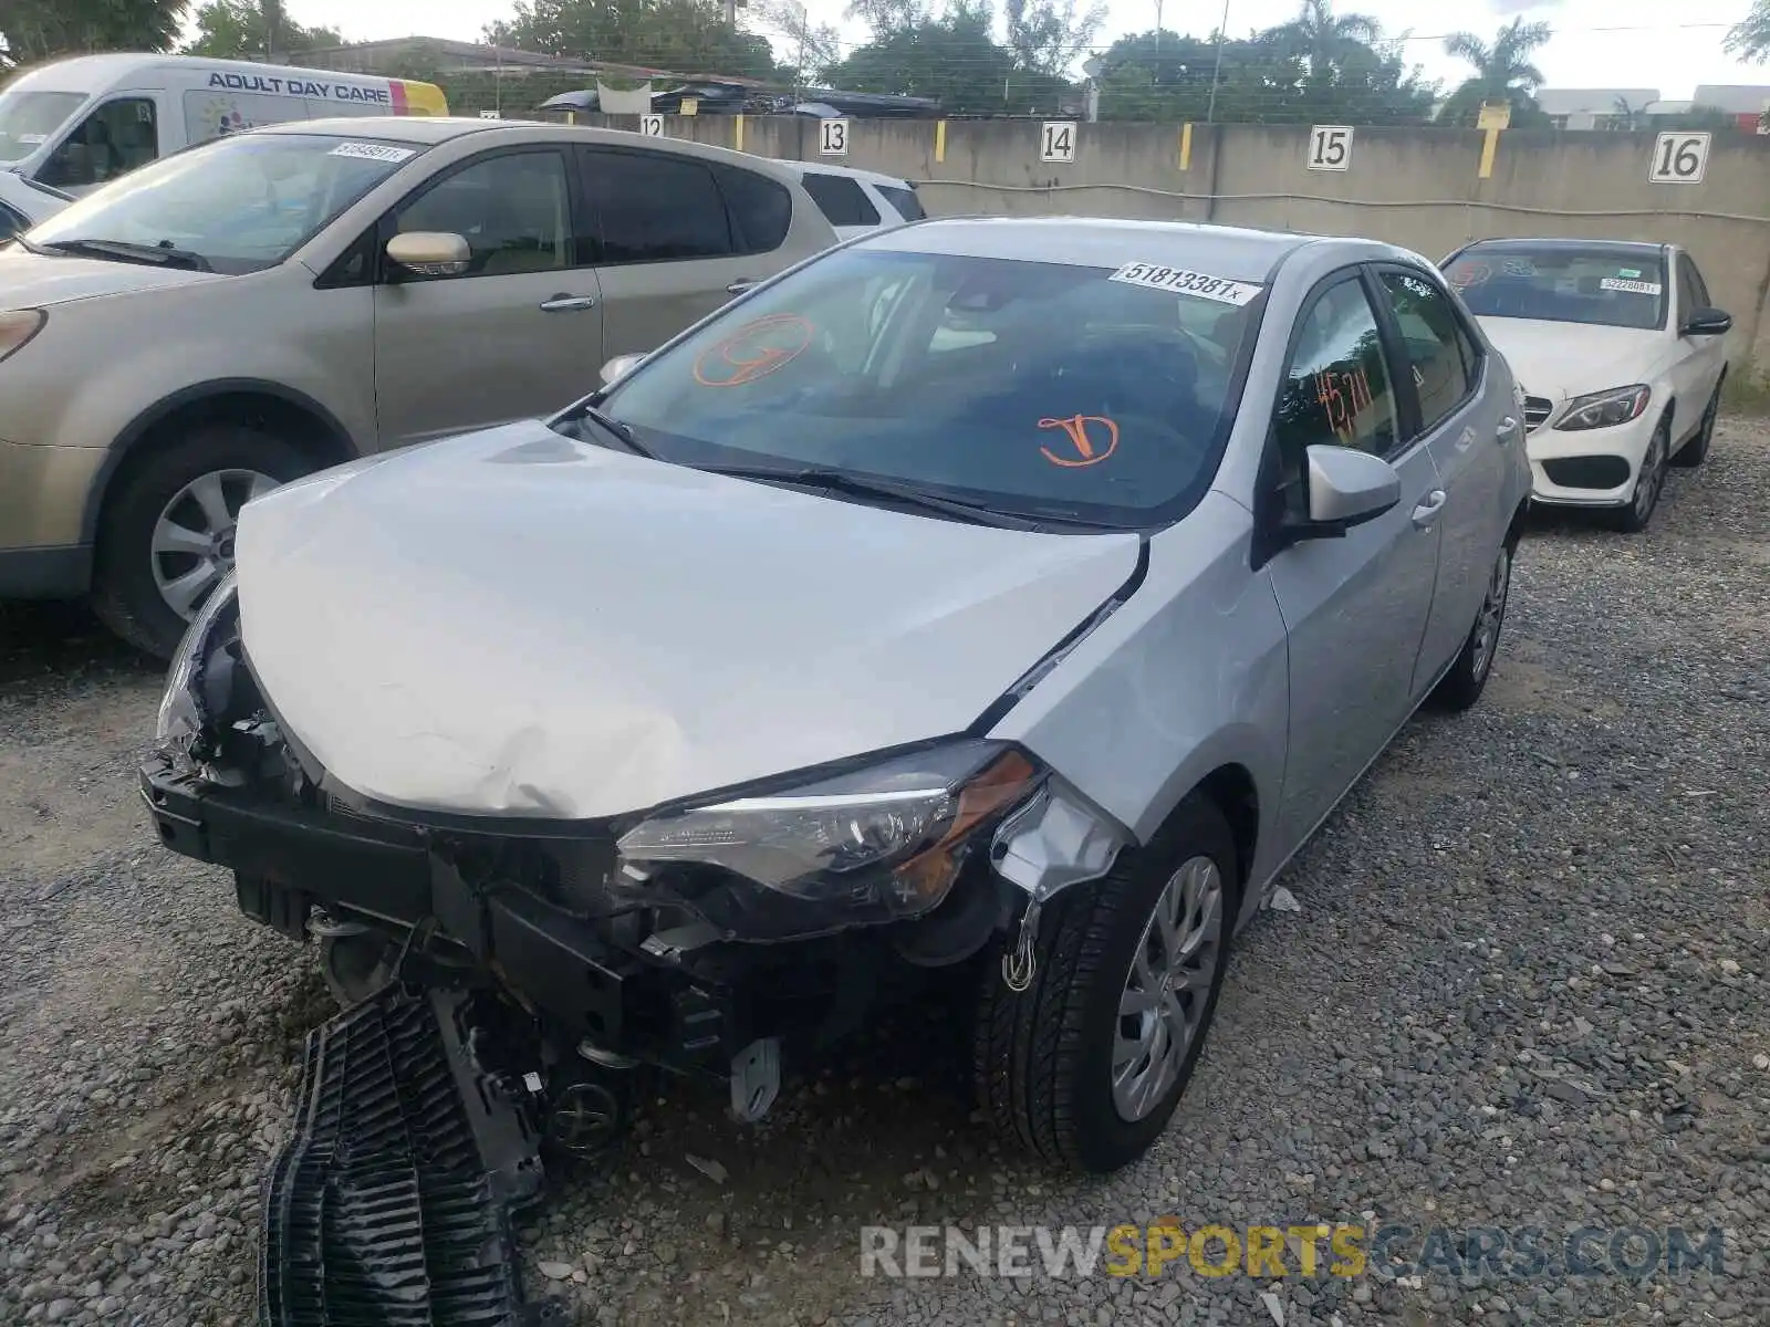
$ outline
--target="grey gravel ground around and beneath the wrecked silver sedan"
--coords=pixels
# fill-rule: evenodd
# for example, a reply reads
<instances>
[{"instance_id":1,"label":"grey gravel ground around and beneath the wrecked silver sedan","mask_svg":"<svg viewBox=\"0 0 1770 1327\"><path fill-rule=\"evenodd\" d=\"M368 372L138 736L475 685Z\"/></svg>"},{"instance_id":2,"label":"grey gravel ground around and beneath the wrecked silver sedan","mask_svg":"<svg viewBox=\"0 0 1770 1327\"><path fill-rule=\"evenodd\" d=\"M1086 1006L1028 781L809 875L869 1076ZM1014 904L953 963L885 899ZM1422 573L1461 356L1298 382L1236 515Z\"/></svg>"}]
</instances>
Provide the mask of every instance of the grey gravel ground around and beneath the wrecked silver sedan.
<instances>
[{"instance_id":1,"label":"grey gravel ground around and beneath the wrecked silver sedan","mask_svg":"<svg viewBox=\"0 0 1770 1327\"><path fill-rule=\"evenodd\" d=\"M1243 936L1150 1157L1074 1182L968 1118L938 1010L759 1127L669 1086L614 1173L554 1175L531 1288L595 1323L1770 1322L1770 428L1729 421L1653 529L1540 522L1481 706L1423 717ZM0 1320L253 1315L257 1182L326 1016L133 786L156 671L0 605ZM692 1161L690 1161L692 1159ZM1722 1228L1643 1281L890 1281L862 1224ZM1418 1240L1412 1249L1418 1254ZM1326 1262L1326 1258L1324 1258Z\"/></svg>"}]
</instances>

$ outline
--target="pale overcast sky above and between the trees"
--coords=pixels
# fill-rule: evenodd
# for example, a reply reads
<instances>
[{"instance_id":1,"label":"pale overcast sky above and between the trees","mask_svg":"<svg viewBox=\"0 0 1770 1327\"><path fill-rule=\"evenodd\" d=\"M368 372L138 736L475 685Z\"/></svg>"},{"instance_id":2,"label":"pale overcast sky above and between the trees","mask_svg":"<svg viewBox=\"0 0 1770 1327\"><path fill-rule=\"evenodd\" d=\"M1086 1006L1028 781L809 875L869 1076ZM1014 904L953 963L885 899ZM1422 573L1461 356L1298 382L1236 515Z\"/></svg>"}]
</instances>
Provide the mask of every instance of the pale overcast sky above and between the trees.
<instances>
[{"instance_id":1,"label":"pale overcast sky above and between the trees","mask_svg":"<svg viewBox=\"0 0 1770 1327\"><path fill-rule=\"evenodd\" d=\"M839 23L851 39L864 28L843 23L846 0L807 0L811 12ZM1126 32L1156 25L1156 0L1108 0L1101 44ZM1432 5L1407 0L1340 0L1342 11L1377 18L1388 34L1411 30L1409 64L1425 67L1428 78L1446 85L1466 67L1444 55L1446 32L1469 28L1490 39L1494 28L1513 14L1547 19L1556 35L1536 62L1549 76L1549 87L1658 88L1662 97L1689 97L1697 83L1770 83L1770 67L1742 65L1720 50L1729 25L1749 9L1751 0L1464 0ZM299 23L322 23L343 32L349 41L375 37L455 37L476 41L481 28L504 18L508 0L285 0L287 12ZM998 5L1000 9L1000 5ZM1273 27L1290 18L1299 0L1230 0L1228 32ZM1165 0L1163 25L1175 32L1205 35L1221 16L1220 0Z\"/></svg>"}]
</instances>

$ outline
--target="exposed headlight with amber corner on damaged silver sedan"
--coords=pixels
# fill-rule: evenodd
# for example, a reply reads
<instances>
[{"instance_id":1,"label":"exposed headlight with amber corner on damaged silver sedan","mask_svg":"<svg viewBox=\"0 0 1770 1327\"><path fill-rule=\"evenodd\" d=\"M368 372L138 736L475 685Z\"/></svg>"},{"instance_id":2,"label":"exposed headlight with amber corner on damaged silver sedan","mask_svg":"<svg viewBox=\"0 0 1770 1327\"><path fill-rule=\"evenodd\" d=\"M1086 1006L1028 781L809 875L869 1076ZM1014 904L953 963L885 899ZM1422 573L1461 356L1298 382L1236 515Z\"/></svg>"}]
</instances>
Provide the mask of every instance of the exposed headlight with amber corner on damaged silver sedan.
<instances>
[{"instance_id":1,"label":"exposed headlight with amber corner on damaged silver sedan","mask_svg":"<svg viewBox=\"0 0 1770 1327\"><path fill-rule=\"evenodd\" d=\"M646 885L674 874L669 892L738 938L920 917L947 897L974 835L1041 780L1014 747L954 741L655 816L621 837L623 874Z\"/></svg>"}]
</instances>

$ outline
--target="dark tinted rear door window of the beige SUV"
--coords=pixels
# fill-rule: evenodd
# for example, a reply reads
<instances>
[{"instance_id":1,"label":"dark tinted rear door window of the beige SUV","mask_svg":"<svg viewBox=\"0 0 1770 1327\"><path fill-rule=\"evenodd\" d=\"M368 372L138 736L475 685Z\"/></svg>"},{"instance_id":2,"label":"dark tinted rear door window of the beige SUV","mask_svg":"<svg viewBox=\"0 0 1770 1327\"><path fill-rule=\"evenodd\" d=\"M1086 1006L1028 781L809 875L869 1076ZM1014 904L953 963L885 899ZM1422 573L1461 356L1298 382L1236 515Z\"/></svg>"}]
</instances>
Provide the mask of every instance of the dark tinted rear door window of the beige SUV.
<instances>
[{"instance_id":1,"label":"dark tinted rear door window of the beige SUV","mask_svg":"<svg viewBox=\"0 0 1770 1327\"><path fill-rule=\"evenodd\" d=\"M596 218L596 262L726 258L726 195L701 161L662 152L581 149L584 195Z\"/></svg>"}]
</instances>

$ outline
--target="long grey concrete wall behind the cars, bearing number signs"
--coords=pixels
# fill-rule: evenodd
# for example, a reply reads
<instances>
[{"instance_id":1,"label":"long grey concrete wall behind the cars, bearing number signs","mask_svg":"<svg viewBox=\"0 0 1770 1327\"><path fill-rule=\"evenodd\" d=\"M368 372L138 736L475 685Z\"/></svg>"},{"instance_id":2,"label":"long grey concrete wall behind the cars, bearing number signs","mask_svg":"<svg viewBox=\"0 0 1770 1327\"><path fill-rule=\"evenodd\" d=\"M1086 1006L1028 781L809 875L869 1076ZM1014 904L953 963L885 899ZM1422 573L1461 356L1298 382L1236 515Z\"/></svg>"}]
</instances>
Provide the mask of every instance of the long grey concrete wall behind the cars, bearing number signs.
<instances>
[{"instance_id":1,"label":"long grey concrete wall behind the cars, bearing number signs","mask_svg":"<svg viewBox=\"0 0 1770 1327\"><path fill-rule=\"evenodd\" d=\"M667 117L664 131L724 147L740 133L726 115ZM1039 161L1039 133L1037 120L851 120L848 156L827 161L915 180L933 214L1359 234L1434 260L1483 235L1683 244L1735 317L1735 356L1770 370L1770 136L1717 133L1701 184L1653 184L1653 133L1508 131L1489 179L1473 129L1358 129L1345 172L1306 168L1308 126L1083 124L1069 165ZM743 117L742 138L747 152L818 159L816 120Z\"/></svg>"}]
</instances>

